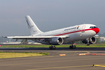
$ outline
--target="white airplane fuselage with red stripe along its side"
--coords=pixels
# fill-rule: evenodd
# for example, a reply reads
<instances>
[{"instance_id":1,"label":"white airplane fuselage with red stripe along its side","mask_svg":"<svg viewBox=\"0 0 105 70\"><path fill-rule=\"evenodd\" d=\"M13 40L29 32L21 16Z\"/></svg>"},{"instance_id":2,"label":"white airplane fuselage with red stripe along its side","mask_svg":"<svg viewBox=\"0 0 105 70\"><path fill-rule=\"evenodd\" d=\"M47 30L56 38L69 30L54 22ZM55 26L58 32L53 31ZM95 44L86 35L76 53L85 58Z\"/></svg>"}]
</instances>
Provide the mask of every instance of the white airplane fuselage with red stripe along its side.
<instances>
[{"instance_id":1,"label":"white airplane fuselage with red stripe along its side","mask_svg":"<svg viewBox=\"0 0 105 70\"><path fill-rule=\"evenodd\" d=\"M64 43L74 42L78 40L83 40L86 38L93 37L97 33L94 29L90 28L95 26L93 24L81 24L75 25L67 28L57 29L53 31L43 32L40 34L35 34L35 36L64 36L68 35L69 37L64 39Z\"/></svg>"}]
</instances>

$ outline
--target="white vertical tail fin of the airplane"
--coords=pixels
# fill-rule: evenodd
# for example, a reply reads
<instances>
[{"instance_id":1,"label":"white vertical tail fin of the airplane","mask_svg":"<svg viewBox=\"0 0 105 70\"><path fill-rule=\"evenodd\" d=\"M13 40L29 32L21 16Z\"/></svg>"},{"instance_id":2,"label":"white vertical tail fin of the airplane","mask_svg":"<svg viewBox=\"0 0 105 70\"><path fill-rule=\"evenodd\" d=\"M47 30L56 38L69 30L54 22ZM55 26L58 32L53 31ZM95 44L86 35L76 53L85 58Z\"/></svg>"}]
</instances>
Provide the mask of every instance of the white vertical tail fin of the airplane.
<instances>
[{"instance_id":1,"label":"white vertical tail fin of the airplane","mask_svg":"<svg viewBox=\"0 0 105 70\"><path fill-rule=\"evenodd\" d=\"M39 30L39 28L36 26L36 24L33 22L30 16L26 16L25 18L30 29L31 35L42 33L42 31Z\"/></svg>"}]
</instances>

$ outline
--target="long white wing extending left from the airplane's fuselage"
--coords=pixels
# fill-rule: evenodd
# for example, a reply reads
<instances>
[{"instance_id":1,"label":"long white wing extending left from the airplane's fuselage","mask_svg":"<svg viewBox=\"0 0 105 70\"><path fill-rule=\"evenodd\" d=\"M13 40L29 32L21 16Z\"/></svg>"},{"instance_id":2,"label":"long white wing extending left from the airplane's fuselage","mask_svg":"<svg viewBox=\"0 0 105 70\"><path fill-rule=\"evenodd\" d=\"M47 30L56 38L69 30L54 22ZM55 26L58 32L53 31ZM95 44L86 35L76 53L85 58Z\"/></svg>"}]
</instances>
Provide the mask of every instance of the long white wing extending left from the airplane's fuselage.
<instances>
[{"instance_id":1,"label":"long white wing extending left from the airplane's fuselage","mask_svg":"<svg viewBox=\"0 0 105 70\"><path fill-rule=\"evenodd\" d=\"M68 35L65 36L7 36L5 38L12 38L12 39L50 39L54 37L60 37L60 38L67 38Z\"/></svg>"}]
</instances>

